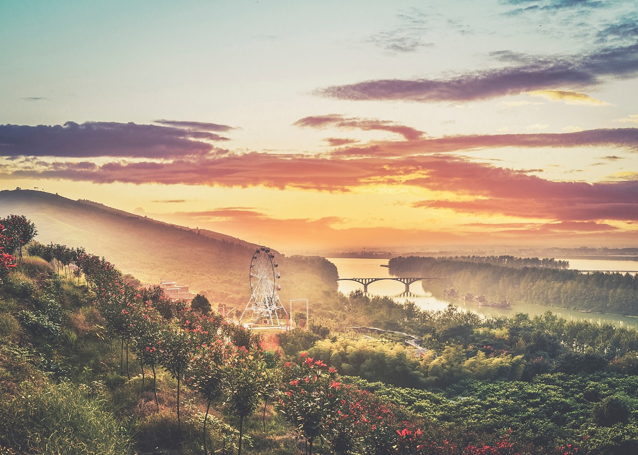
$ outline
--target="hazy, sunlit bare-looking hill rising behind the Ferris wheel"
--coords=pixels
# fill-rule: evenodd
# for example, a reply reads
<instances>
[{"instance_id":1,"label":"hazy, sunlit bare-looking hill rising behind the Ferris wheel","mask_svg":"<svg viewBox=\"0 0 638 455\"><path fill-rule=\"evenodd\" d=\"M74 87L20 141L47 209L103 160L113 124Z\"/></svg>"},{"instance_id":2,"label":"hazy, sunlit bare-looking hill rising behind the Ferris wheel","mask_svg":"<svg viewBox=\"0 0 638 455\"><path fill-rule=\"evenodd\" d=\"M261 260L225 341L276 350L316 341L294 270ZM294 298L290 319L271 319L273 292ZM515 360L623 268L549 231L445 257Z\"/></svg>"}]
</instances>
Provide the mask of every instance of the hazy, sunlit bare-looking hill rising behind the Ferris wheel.
<instances>
[{"instance_id":1,"label":"hazy, sunlit bare-looking hill rising behind the Ferris wheel","mask_svg":"<svg viewBox=\"0 0 638 455\"><path fill-rule=\"evenodd\" d=\"M168 278L228 305L241 306L250 296L248 268L256 247L252 243L43 191L0 191L0 217L10 213L36 224L38 242L85 247L142 282ZM277 259L283 301L317 300L336 293L336 268L325 259L279 254Z\"/></svg>"}]
</instances>

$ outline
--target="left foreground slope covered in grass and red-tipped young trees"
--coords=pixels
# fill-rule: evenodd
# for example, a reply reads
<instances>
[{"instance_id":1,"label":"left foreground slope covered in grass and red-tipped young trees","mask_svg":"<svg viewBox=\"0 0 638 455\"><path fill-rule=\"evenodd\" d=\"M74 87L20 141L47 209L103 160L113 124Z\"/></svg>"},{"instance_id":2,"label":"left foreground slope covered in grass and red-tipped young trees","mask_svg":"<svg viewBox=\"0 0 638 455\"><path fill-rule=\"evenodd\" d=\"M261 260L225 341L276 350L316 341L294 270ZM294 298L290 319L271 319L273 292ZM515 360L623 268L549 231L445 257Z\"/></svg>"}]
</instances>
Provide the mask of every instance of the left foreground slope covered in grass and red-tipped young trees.
<instances>
[{"instance_id":1,"label":"left foreground slope covered in grass and red-tipped young trees","mask_svg":"<svg viewBox=\"0 0 638 455\"><path fill-rule=\"evenodd\" d=\"M135 289L93 254L75 259L80 284L5 257L3 455L539 453L503 431L450 432L306 353L281 361L258 333Z\"/></svg>"}]
</instances>

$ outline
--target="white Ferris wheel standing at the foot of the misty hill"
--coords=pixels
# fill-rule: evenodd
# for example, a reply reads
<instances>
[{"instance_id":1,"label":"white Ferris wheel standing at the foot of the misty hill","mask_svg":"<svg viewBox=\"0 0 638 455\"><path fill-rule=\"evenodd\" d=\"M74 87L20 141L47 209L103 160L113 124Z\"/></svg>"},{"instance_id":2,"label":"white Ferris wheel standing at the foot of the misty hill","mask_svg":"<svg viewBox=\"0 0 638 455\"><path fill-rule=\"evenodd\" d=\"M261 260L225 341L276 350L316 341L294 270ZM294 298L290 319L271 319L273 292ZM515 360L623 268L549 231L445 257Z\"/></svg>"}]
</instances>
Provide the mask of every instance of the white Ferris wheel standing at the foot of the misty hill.
<instances>
[{"instance_id":1,"label":"white Ferris wheel standing at the foot of the misty hill","mask_svg":"<svg viewBox=\"0 0 638 455\"><path fill-rule=\"evenodd\" d=\"M281 326L281 323L285 322L286 308L281 304L277 294L277 291L281 291L281 285L277 282L281 274L277 270L279 264L274 261L274 257L271 249L264 246L260 246L253 253L248 275L251 296L239 322L242 322L246 312L251 312L251 324L265 320L270 326Z\"/></svg>"}]
</instances>

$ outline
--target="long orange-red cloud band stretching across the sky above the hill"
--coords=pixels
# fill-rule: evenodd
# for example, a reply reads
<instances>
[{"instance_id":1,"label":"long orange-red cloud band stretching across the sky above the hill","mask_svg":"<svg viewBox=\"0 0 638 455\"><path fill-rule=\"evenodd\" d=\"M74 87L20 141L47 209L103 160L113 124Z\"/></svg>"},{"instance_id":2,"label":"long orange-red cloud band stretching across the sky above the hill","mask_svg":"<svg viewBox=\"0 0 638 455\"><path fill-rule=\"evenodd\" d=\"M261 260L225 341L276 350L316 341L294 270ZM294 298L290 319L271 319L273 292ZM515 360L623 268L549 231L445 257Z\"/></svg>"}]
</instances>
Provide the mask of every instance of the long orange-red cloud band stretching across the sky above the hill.
<instances>
[{"instance_id":1,"label":"long orange-red cloud band stretching across the sky above the hill","mask_svg":"<svg viewBox=\"0 0 638 455\"><path fill-rule=\"evenodd\" d=\"M24 166L24 165L23 165ZM362 185L406 185L463 196L427 200L415 208L459 213L502 214L547 220L638 220L638 180L554 182L525 171L475 163L446 154L337 159L285 154L242 154L170 163L84 163L31 165L12 177L66 178L95 183L193 184L226 187L262 185L277 189L351 191Z\"/></svg>"}]
</instances>

